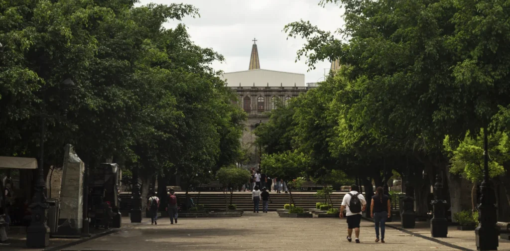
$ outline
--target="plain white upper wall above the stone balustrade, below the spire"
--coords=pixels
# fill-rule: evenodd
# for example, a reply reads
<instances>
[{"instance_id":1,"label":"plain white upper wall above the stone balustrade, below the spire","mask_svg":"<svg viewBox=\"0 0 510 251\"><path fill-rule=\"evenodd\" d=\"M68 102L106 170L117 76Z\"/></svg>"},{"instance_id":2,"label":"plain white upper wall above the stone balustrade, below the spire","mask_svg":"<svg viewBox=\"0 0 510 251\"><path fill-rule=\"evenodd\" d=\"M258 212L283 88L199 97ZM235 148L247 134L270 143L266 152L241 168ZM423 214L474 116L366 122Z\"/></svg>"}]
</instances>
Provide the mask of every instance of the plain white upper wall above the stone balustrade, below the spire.
<instances>
[{"instance_id":1,"label":"plain white upper wall above the stone balustrade, below the spire","mask_svg":"<svg viewBox=\"0 0 510 251\"><path fill-rule=\"evenodd\" d=\"M304 87L304 74L275 70L245 70L223 73L227 86L297 86Z\"/></svg>"}]
</instances>

